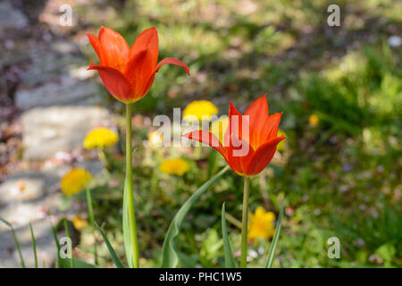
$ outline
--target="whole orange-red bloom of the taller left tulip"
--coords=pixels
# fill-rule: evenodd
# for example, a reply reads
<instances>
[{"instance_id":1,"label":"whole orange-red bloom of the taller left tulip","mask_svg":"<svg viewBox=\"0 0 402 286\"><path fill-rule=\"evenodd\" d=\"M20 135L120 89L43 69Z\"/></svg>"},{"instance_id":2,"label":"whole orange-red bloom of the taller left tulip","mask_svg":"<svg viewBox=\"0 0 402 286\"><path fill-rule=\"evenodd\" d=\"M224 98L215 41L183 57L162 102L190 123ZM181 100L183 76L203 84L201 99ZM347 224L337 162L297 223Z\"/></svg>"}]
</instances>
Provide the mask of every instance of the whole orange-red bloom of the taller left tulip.
<instances>
[{"instance_id":1,"label":"whole orange-red bloom of the taller left tulip","mask_svg":"<svg viewBox=\"0 0 402 286\"><path fill-rule=\"evenodd\" d=\"M158 60L158 33L146 29L130 46L119 33L106 27L99 30L97 38L88 34L89 42L99 57L99 65L90 63L88 70L97 70L105 87L123 103L133 103L147 95L155 80L155 72L163 64L172 63L188 71L186 64L173 57Z\"/></svg>"}]
</instances>

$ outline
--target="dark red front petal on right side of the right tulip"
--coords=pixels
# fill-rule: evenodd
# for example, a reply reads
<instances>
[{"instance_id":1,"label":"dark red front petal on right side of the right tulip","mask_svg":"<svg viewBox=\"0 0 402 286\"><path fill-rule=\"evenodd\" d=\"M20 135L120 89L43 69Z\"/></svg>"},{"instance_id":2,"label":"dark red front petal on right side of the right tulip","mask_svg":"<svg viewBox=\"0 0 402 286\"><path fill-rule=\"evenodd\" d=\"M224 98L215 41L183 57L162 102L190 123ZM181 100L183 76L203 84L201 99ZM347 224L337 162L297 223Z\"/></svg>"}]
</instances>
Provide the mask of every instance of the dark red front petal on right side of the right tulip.
<instances>
[{"instance_id":1,"label":"dark red front petal on right side of the right tulip","mask_svg":"<svg viewBox=\"0 0 402 286\"><path fill-rule=\"evenodd\" d=\"M247 164L246 173L248 176L253 176L263 171L263 169L270 164L272 157L275 154L276 146L283 139L285 139L284 136L271 139L255 150L253 156Z\"/></svg>"}]
</instances>

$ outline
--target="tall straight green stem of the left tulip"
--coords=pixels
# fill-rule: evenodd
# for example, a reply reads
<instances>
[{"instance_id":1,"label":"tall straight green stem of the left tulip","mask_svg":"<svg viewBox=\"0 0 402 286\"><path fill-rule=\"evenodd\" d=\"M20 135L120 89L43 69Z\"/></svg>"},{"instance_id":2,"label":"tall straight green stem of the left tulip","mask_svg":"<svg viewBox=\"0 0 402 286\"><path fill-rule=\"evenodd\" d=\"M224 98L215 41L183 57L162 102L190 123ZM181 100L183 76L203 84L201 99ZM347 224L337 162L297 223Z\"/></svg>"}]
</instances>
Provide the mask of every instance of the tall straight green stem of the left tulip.
<instances>
[{"instance_id":1,"label":"tall straight green stem of the left tulip","mask_svg":"<svg viewBox=\"0 0 402 286\"><path fill-rule=\"evenodd\" d=\"M130 225L130 243L132 251L132 265L138 268L138 238L136 226L136 214L134 208L134 194L132 186L132 147L131 147L131 106L126 104L126 183L127 183L127 199L129 211ZM123 214L124 215L124 214Z\"/></svg>"}]
</instances>

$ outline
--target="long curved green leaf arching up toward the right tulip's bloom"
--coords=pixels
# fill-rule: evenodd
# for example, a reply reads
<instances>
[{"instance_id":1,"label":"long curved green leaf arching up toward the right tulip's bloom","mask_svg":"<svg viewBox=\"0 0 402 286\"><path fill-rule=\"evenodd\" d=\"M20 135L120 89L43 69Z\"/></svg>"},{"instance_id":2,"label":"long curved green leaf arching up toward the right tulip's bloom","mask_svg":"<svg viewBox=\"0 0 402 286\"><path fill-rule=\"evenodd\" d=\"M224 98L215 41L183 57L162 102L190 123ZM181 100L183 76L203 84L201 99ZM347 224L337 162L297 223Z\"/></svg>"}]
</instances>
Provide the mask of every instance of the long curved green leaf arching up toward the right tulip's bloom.
<instances>
[{"instance_id":1,"label":"long curved green leaf arching up toward the right tulip's bloom","mask_svg":"<svg viewBox=\"0 0 402 286\"><path fill-rule=\"evenodd\" d=\"M180 207L177 214L174 216L171 225L166 233L166 237L163 241L162 248L162 265L163 268L174 268L179 263L179 257L177 254L176 243L177 237L179 235L181 223L183 219L186 217L189 209L193 204L197 201L202 194L204 194L205 190L211 187L215 181L217 181L223 173L229 170L229 166L223 168L220 172L214 175L213 178L206 181L199 189L196 190L194 194L191 195L190 198Z\"/></svg>"}]
</instances>

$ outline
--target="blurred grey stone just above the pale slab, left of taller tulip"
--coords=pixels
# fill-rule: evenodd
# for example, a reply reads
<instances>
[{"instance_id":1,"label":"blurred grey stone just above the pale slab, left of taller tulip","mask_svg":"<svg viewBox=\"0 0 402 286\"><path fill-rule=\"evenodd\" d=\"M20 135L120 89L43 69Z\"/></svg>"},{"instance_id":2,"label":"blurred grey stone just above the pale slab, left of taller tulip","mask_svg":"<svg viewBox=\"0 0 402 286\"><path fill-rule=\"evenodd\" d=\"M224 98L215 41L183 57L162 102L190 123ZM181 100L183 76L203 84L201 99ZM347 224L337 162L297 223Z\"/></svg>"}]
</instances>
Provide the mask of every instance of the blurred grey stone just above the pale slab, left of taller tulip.
<instances>
[{"instance_id":1,"label":"blurred grey stone just above the pale slab, left of taller tulip","mask_svg":"<svg viewBox=\"0 0 402 286\"><path fill-rule=\"evenodd\" d=\"M22 111L54 105L98 105L94 71L87 65L78 46L56 41L27 51L29 65L21 71L15 105Z\"/></svg>"}]
</instances>

